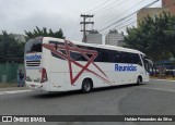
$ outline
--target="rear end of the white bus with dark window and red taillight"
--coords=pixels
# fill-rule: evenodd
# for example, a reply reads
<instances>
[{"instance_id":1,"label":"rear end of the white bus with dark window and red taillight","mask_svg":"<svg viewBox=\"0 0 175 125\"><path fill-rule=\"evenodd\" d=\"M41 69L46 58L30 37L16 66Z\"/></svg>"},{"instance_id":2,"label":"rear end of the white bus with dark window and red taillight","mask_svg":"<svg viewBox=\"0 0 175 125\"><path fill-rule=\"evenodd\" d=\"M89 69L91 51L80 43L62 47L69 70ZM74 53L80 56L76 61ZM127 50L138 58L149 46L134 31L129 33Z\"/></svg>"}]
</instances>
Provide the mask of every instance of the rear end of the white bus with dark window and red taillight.
<instances>
[{"instance_id":1,"label":"rear end of the white bus with dark window and red taillight","mask_svg":"<svg viewBox=\"0 0 175 125\"><path fill-rule=\"evenodd\" d=\"M35 90L48 90L47 72L43 67L43 38L31 39L25 43L25 83Z\"/></svg>"}]
</instances>

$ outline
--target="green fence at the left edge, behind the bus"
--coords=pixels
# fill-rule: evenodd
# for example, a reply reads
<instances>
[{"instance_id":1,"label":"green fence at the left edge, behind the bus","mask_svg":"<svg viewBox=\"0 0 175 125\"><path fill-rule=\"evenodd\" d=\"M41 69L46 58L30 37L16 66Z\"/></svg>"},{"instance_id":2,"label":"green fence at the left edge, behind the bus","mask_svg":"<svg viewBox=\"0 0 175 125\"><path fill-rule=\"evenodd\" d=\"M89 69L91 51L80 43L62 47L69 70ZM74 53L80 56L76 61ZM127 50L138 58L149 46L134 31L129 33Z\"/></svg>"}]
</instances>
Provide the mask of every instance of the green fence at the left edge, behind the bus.
<instances>
[{"instance_id":1,"label":"green fence at the left edge, behind the bus","mask_svg":"<svg viewBox=\"0 0 175 125\"><path fill-rule=\"evenodd\" d=\"M23 70L23 63L4 62L0 63L0 83L16 83L18 71Z\"/></svg>"}]
</instances>

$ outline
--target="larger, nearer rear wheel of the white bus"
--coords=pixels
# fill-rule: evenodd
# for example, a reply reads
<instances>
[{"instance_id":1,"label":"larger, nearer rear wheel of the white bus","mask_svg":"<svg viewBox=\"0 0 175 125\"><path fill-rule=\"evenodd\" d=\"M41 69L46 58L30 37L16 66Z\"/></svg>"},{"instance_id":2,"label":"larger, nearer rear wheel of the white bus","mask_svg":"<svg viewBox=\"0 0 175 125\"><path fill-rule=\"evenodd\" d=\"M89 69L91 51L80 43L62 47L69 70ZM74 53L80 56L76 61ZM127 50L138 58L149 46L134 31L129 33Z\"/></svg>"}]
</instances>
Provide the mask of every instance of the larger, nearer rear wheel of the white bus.
<instances>
[{"instance_id":1,"label":"larger, nearer rear wheel of the white bus","mask_svg":"<svg viewBox=\"0 0 175 125\"><path fill-rule=\"evenodd\" d=\"M81 90L82 92L90 92L92 90L92 82L90 79L84 79Z\"/></svg>"}]
</instances>

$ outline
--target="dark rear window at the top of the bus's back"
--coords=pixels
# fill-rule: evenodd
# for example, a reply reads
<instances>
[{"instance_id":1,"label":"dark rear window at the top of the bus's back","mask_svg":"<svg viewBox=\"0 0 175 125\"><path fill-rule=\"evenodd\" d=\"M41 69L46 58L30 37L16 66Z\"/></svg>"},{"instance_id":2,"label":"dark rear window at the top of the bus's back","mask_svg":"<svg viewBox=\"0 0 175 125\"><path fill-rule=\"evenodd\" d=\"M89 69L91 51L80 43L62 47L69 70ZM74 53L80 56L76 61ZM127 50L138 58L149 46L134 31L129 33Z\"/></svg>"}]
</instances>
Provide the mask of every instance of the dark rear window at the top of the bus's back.
<instances>
[{"instance_id":1,"label":"dark rear window at the top of the bus's back","mask_svg":"<svg viewBox=\"0 0 175 125\"><path fill-rule=\"evenodd\" d=\"M42 52L42 38L31 39L25 43L25 53Z\"/></svg>"}]
</instances>

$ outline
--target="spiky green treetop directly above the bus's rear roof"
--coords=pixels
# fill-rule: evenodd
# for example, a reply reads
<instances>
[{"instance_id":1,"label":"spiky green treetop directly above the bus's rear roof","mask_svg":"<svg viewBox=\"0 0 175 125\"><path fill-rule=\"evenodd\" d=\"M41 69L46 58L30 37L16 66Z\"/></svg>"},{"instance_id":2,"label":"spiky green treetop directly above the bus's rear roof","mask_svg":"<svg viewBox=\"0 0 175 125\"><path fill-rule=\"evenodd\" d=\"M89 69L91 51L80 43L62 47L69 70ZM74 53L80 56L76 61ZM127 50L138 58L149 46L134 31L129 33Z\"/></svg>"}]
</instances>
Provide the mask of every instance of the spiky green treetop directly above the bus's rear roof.
<instances>
[{"instance_id":1,"label":"spiky green treetop directly above the bus's rear roof","mask_svg":"<svg viewBox=\"0 0 175 125\"><path fill-rule=\"evenodd\" d=\"M47 32L46 27L43 27L43 29L39 29L36 26L36 29L34 29L33 32L25 32L26 35L26 40L35 38L35 37L55 37L55 38L62 38L65 39L62 29L59 29L58 32L52 32L51 29L49 29L49 32Z\"/></svg>"}]
</instances>

